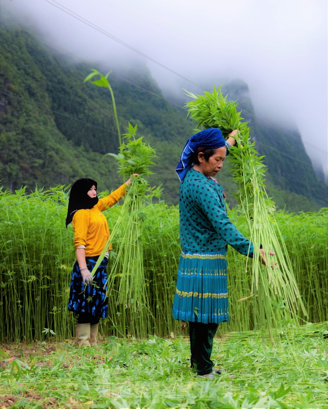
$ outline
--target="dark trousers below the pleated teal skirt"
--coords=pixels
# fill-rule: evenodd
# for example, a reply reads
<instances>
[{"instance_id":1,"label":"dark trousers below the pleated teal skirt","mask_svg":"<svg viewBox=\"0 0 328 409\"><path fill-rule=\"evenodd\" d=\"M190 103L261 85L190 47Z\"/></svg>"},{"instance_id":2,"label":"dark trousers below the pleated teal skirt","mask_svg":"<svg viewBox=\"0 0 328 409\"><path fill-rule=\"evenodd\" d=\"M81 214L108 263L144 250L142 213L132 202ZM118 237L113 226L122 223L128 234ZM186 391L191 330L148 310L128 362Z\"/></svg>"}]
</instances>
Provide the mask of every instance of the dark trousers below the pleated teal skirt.
<instances>
[{"instance_id":1,"label":"dark trousers below the pleated teal skirt","mask_svg":"<svg viewBox=\"0 0 328 409\"><path fill-rule=\"evenodd\" d=\"M198 375L212 373L214 364L211 361L211 354L218 327L218 324L189 322L191 367L196 367Z\"/></svg>"}]
</instances>

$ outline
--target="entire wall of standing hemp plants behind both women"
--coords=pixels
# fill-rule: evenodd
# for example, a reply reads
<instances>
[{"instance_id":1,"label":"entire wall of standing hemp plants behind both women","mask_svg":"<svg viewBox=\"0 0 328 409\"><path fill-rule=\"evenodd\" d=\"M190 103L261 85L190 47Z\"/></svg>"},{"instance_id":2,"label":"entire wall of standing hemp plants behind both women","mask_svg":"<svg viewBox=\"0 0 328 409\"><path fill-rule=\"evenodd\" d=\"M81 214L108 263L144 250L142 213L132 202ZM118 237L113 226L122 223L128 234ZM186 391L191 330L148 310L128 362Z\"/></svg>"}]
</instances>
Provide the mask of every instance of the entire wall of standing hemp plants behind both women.
<instances>
[{"instance_id":1,"label":"entire wall of standing hemp plants behind both women","mask_svg":"<svg viewBox=\"0 0 328 409\"><path fill-rule=\"evenodd\" d=\"M44 341L48 336L43 332L45 328L49 329L49 334L50 330L55 333L51 338L56 340L70 338L73 334L74 316L67 310L67 303L75 252L72 227L66 229L64 224L67 191L66 187L59 186L33 193L26 193L24 189L0 193L0 257L3 260L0 267L0 315L4 317L0 324L0 342ZM113 231L122 215L122 206L114 206L105 215ZM237 228L249 236L245 217L235 210L229 215ZM178 328L171 314L181 253L178 208L164 202L148 203L132 218L135 216L141 219L141 230L137 232L134 247L139 246L143 251L142 268L149 304L147 325L151 326L148 334L168 336L172 331L177 333ZM311 322L328 318L327 220L328 209L300 215L276 213L276 221L283 231L281 240L286 244L285 251L290 257ZM121 225L129 226L128 218ZM125 235L125 228L115 233L109 258L108 271L113 271L116 262L117 276L113 277L109 318L101 323L101 331L106 336L133 334L125 306L117 306L120 277L127 273L124 267L127 255L118 254ZM232 250L228 251L228 266L230 322L220 326L220 331L252 330L255 323L251 270L245 271L245 257ZM273 308L278 316L281 305L274 304Z\"/></svg>"}]
</instances>

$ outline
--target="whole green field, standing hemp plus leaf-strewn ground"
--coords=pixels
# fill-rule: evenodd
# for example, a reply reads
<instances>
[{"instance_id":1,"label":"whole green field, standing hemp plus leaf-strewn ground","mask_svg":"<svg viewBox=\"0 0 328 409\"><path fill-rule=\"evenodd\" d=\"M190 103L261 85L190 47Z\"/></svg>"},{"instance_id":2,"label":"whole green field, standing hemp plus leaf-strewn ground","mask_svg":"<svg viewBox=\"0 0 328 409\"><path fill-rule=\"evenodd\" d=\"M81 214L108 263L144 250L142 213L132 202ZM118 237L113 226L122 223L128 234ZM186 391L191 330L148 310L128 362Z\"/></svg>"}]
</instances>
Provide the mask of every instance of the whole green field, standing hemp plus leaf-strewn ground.
<instances>
[{"instance_id":1,"label":"whole green field, standing hemp plus leaf-strewn ground","mask_svg":"<svg viewBox=\"0 0 328 409\"><path fill-rule=\"evenodd\" d=\"M300 329L281 322L274 342L264 327L253 331L245 257L228 251L230 322L215 339L213 359L223 374L214 380L191 372L187 332L171 316L181 251L177 207L157 200L142 209L151 304L149 322L139 328L151 328L148 336L134 334L131 311L113 293L99 345L83 349L72 339L74 317L67 311L75 252L66 209L61 186L0 194L0 408L328 407L328 209L275 214L308 316L300 313ZM118 205L107 212L110 228L120 212ZM247 236L243 214L232 209L229 216ZM110 264L119 242L117 235ZM278 314L283 301L274 308Z\"/></svg>"}]
</instances>

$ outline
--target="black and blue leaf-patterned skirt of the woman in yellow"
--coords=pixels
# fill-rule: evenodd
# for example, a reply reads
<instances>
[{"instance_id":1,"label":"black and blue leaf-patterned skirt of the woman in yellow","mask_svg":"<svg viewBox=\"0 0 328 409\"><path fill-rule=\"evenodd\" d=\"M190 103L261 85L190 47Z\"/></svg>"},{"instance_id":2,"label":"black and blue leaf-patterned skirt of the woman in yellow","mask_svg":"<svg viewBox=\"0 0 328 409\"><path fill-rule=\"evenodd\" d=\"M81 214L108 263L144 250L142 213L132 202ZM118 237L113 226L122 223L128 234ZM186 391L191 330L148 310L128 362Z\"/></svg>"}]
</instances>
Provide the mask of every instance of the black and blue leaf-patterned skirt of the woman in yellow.
<instances>
[{"instance_id":1,"label":"black and blue leaf-patterned skirt of the woman in yellow","mask_svg":"<svg viewBox=\"0 0 328 409\"><path fill-rule=\"evenodd\" d=\"M92 271L98 256L85 257L86 267ZM70 286L70 296L68 301L69 311L77 314L84 312L97 318L106 318L108 316L108 297L106 297L107 286L107 257L101 261L95 276L95 285L84 285L78 262L75 261L72 271Z\"/></svg>"}]
</instances>

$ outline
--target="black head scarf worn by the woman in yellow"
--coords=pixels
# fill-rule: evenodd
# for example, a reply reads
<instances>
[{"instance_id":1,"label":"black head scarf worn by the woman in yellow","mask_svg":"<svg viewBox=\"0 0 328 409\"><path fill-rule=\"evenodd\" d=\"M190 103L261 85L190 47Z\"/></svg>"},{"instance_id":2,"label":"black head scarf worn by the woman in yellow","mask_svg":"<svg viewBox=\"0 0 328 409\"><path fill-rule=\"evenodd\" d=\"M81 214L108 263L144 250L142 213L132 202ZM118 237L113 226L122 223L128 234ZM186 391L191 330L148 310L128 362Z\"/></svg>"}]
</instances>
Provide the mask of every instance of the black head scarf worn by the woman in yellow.
<instances>
[{"instance_id":1,"label":"black head scarf worn by the woman in yellow","mask_svg":"<svg viewBox=\"0 0 328 409\"><path fill-rule=\"evenodd\" d=\"M92 179L78 179L73 183L68 201L68 211L66 216L66 227L71 223L74 213L80 209L92 209L98 203L98 197L90 197L87 192L97 182Z\"/></svg>"}]
</instances>

